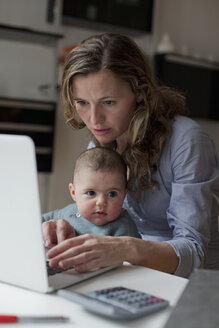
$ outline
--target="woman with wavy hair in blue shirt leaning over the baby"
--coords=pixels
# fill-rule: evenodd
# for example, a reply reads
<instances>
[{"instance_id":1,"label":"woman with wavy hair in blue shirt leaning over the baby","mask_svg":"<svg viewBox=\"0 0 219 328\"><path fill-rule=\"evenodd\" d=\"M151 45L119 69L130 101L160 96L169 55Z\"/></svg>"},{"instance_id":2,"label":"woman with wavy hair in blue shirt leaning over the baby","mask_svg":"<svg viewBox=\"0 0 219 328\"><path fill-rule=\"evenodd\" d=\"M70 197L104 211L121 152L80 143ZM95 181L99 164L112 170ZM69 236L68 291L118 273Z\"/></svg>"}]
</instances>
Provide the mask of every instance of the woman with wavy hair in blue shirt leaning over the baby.
<instances>
[{"instance_id":1,"label":"woman with wavy hair in blue shirt leaning over the baby","mask_svg":"<svg viewBox=\"0 0 219 328\"><path fill-rule=\"evenodd\" d=\"M83 272L129 261L183 277L219 268L218 164L209 137L185 116L182 95L158 84L130 38L112 33L89 37L68 55L62 91L67 123L88 127L89 147L123 156L131 190L124 207L142 239L72 238L62 221L43 232L60 241L48 253L51 266Z\"/></svg>"}]
</instances>

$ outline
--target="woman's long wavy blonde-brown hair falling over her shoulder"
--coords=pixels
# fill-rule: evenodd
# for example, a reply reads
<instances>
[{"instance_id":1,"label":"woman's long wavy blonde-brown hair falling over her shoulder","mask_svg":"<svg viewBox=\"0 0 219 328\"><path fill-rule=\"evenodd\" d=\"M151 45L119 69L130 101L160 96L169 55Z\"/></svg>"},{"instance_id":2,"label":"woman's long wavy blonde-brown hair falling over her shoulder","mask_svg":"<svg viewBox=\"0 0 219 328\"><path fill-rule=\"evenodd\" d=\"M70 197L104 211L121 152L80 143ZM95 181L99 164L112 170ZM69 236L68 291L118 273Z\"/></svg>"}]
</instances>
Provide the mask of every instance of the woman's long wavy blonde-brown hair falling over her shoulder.
<instances>
[{"instance_id":1,"label":"woman's long wavy blonde-brown hair falling over her shoulder","mask_svg":"<svg viewBox=\"0 0 219 328\"><path fill-rule=\"evenodd\" d=\"M142 96L141 102L136 104L122 156L130 170L130 190L135 190L136 182L141 189L154 189L157 182L152 175L157 169L157 160L174 116L186 114L185 99L178 91L157 81L145 54L132 39L114 33L94 35L66 57L62 99L66 122L75 129L85 124L78 117L73 102L74 77L101 70L113 72L128 82L135 94Z\"/></svg>"}]
</instances>

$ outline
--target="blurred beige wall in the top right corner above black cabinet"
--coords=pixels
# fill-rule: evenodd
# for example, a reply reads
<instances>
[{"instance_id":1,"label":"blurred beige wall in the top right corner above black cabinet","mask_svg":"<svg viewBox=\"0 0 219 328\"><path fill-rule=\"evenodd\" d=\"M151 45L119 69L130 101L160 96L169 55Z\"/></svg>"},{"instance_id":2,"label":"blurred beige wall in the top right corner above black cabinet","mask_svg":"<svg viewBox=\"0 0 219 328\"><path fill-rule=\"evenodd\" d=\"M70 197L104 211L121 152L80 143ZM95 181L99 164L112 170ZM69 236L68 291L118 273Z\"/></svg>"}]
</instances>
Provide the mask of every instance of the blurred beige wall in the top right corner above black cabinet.
<instances>
[{"instance_id":1,"label":"blurred beige wall in the top right corner above black cabinet","mask_svg":"<svg viewBox=\"0 0 219 328\"><path fill-rule=\"evenodd\" d=\"M218 0L157 0L157 41L168 33L177 52L219 62Z\"/></svg>"}]
</instances>

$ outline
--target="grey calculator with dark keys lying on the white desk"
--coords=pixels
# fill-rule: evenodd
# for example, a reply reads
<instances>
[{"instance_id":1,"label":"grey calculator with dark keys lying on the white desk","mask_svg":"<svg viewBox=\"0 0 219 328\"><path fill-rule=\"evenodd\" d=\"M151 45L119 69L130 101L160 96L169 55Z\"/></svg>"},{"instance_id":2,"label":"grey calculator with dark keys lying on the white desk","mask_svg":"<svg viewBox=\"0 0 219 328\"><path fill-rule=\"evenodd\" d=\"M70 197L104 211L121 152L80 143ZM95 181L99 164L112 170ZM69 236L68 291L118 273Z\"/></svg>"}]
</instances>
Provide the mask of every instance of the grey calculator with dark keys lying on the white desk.
<instances>
[{"instance_id":1,"label":"grey calculator with dark keys lying on the white desk","mask_svg":"<svg viewBox=\"0 0 219 328\"><path fill-rule=\"evenodd\" d=\"M95 290L88 294L65 289L57 293L90 312L119 320L137 319L169 306L167 300L125 287Z\"/></svg>"}]
</instances>

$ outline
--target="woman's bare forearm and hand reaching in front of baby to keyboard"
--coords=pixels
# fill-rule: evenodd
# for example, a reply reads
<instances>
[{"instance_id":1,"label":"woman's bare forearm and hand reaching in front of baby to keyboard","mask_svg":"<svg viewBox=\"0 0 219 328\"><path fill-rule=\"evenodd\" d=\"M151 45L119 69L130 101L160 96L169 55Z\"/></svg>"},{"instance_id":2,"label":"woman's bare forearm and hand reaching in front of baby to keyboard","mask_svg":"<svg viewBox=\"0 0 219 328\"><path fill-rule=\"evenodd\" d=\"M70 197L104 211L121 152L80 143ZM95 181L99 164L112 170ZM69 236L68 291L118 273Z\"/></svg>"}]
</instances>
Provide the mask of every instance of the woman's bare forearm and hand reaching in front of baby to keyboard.
<instances>
[{"instance_id":1,"label":"woman's bare forearm and hand reaching in front of baby to keyboard","mask_svg":"<svg viewBox=\"0 0 219 328\"><path fill-rule=\"evenodd\" d=\"M167 273L174 273L178 265L178 258L168 243L89 234L61 242L48 252L48 258L52 267L75 266L79 272L123 261Z\"/></svg>"}]
</instances>

